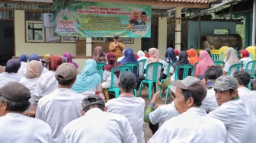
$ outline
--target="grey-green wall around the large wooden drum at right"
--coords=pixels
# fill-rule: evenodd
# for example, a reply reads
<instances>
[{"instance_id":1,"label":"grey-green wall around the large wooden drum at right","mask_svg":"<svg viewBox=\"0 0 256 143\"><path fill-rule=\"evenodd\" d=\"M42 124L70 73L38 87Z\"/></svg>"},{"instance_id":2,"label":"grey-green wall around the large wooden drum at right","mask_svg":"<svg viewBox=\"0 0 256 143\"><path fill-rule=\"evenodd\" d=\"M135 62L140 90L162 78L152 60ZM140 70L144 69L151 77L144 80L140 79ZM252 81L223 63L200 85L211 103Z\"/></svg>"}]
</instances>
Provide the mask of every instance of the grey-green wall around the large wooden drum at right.
<instances>
[{"instance_id":1,"label":"grey-green wall around the large wooden drum at right","mask_svg":"<svg viewBox=\"0 0 256 143\"><path fill-rule=\"evenodd\" d=\"M201 37L203 35L213 35L215 29L228 29L229 34L236 33L235 22L219 22L219 21L201 21ZM187 49L192 46L198 49L198 21L188 21L188 40ZM202 49L202 47L201 47Z\"/></svg>"}]
</instances>

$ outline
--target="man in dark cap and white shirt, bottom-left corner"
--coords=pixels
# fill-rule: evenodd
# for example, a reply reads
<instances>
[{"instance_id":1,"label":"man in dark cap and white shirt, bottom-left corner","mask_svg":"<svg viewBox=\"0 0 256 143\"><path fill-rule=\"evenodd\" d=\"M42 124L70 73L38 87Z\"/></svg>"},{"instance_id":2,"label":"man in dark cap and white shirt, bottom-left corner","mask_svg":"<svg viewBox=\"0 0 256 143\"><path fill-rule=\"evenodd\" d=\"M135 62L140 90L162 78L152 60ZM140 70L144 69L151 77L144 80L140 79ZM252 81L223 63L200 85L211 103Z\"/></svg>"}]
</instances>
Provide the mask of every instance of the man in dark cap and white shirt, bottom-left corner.
<instances>
[{"instance_id":1,"label":"man in dark cap and white shirt, bottom-left corner","mask_svg":"<svg viewBox=\"0 0 256 143\"><path fill-rule=\"evenodd\" d=\"M50 126L22 115L30 106L30 91L18 82L0 88L0 141L53 142Z\"/></svg>"}]
</instances>

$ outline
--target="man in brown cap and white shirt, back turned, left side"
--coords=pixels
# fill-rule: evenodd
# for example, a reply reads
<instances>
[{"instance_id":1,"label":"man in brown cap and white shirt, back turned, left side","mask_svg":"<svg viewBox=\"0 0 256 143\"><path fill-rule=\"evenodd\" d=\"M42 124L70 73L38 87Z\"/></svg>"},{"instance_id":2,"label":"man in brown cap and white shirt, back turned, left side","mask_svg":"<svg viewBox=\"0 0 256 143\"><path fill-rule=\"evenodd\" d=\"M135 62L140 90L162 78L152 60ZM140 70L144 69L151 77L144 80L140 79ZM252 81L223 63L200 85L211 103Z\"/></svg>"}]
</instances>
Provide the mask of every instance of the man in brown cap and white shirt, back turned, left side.
<instances>
[{"instance_id":1,"label":"man in brown cap and white shirt, back turned, left side","mask_svg":"<svg viewBox=\"0 0 256 143\"><path fill-rule=\"evenodd\" d=\"M82 99L84 96L72 91L77 69L72 63L63 63L56 69L58 89L40 98L36 118L47 122L53 130L53 141L59 142L59 135L66 124L82 116Z\"/></svg>"}]
</instances>

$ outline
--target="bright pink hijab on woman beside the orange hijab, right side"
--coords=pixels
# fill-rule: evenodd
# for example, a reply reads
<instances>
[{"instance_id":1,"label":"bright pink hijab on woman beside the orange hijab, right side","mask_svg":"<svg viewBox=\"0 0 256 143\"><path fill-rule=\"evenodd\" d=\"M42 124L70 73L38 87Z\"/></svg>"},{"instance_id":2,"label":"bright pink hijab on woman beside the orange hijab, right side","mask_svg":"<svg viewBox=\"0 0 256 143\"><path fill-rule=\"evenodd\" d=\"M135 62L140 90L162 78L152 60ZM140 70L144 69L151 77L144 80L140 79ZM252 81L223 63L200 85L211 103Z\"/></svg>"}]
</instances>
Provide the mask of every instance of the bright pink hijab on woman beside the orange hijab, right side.
<instances>
[{"instance_id":1,"label":"bright pink hijab on woman beside the orange hijab, right side","mask_svg":"<svg viewBox=\"0 0 256 143\"><path fill-rule=\"evenodd\" d=\"M213 59L211 59L207 51L200 51L200 62L198 62L195 75L204 75L204 72L208 68L208 65L214 65Z\"/></svg>"}]
</instances>

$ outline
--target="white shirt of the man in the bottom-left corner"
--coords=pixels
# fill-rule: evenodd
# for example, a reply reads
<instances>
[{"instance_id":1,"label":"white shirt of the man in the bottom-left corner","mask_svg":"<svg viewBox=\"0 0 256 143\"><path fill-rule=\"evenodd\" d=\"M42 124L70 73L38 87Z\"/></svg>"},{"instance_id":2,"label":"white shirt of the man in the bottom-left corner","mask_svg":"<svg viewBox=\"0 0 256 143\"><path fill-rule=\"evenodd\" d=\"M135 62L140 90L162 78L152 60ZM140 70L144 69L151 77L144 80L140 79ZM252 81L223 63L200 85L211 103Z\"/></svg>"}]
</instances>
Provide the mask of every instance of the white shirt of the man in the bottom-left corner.
<instances>
[{"instance_id":1,"label":"white shirt of the man in the bottom-left corner","mask_svg":"<svg viewBox=\"0 0 256 143\"><path fill-rule=\"evenodd\" d=\"M40 119L30 118L20 113L7 113L0 117L0 141L14 142L53 142L52 129Z\"/></svg>"}]
</instances>

